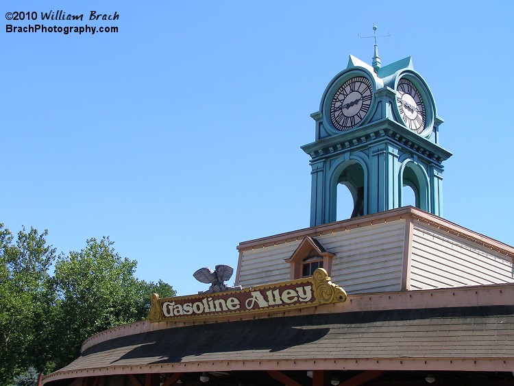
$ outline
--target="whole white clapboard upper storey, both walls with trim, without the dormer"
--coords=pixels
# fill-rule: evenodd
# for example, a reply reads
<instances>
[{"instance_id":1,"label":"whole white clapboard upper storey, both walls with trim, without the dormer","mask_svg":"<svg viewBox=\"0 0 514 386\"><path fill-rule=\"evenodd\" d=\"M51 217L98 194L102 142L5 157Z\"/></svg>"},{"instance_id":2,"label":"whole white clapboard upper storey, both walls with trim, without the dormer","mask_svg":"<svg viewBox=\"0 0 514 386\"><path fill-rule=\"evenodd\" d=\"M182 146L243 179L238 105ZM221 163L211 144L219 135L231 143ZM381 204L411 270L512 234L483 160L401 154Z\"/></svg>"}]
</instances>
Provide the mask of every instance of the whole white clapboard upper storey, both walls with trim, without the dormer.
<instances>
[{"instance_id":1,"label":"whole white clapboard upper storey, both walls with trim, without the dormer","mask_svg":"<svg viewBox=\"0 0 514 386\"><path fill-rule=\"evenodd\" d=\"M406 239L407 229L413 233ZM289 280L284 260L307 234L335 255L330 276L347 293L514 282L512 248L415 208L398 208L242 243L238 285Z\"/></svg>"}]
</instances>

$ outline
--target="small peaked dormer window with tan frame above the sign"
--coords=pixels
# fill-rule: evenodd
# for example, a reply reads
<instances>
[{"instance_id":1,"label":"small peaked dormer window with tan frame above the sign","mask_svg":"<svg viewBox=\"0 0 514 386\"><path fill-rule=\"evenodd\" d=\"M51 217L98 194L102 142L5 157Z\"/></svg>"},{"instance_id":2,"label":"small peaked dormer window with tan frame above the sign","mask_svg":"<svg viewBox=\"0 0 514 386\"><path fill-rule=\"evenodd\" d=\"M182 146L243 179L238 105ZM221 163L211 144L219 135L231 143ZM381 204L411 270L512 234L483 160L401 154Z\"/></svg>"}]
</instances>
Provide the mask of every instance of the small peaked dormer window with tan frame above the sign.
<instances>
[{"instance_id":1,"label":"small peaked dormer window with tan frame above the sign","mask_svg":"<svg viewBox=\"0 0 514 386\"><path fill-rule=\"evenodd\" d=\"M330 275L332 270L332 258L334 254L327 252L323 245L314 237L306 237L298 245L286 263L291 264L289 278L299 279L313 276L317 268L323 268Z\"/></svg>"}]
</instances>

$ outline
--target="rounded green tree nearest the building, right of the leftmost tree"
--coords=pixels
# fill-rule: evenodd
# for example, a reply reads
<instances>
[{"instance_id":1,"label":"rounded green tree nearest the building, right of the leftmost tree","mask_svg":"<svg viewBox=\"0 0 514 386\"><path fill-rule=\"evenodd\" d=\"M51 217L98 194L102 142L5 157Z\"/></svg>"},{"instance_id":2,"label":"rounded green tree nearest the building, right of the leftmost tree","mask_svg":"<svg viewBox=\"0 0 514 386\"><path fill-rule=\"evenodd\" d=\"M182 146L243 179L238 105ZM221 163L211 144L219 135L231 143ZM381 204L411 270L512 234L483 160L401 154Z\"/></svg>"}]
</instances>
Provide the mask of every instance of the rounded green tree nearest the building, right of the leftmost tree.
<instances>
[{"instance_id":1,"label":"rounded green tree nearest the building, right of the leftmost tree","mask_svg":"<svg viewBox=\"0 0 514 386\"><path fill-rule=\"evenodd\" d=\"M137 262L122 258L108 237L88 239L80 252L60 256L55 277L60 294L61 358L79 354L84 339L101 330L145 319L151 291L173 292L164 282L134 276Z\"/></svg>"}]
</instances>

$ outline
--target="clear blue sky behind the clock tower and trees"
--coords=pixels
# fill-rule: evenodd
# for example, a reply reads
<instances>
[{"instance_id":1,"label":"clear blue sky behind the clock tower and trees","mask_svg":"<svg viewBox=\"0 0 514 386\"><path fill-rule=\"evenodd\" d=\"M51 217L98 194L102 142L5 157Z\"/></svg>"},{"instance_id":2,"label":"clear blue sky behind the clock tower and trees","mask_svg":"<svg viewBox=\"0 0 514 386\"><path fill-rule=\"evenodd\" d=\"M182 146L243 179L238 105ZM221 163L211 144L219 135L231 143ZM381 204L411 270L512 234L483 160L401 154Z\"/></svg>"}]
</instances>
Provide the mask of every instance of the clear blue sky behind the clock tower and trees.
<instances>
[{"instance_id":1,"label":"clear blue sky behind the clock tower and trees","mask_svg":"<svg viewBox=\"0 0 514 386\"><path fill-rule=\"evenodd\" d=\"M445 120L444 217L514 245L513 5L420 3L3 1L0 222L65 253L106 235L138 278L206 289L193 272L239 242L308 227L309 114L376 24ZM22 10L117 12L71 25L119 33L6 33Z\"/></svg>"}]
</instances>

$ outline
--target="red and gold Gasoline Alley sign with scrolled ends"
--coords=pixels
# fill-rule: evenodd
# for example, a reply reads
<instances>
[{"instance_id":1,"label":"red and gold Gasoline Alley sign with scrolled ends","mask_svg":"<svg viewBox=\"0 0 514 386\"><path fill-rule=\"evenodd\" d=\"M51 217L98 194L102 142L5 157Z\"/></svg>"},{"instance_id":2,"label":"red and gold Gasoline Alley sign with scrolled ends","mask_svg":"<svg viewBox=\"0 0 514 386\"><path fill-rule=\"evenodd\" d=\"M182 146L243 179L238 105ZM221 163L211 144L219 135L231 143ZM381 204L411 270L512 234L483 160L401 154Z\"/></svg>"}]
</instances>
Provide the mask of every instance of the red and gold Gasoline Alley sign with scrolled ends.
<instances>
[{"instance_id":1,"label":"red and gold Gasoline Alley sign with scrolled ends","mask_svg":"<svg viewBox=\"0 0 514 386\"><path fill-rule=\"evenodd\" d=\"M330 281L323 268L313 277L249 287L241 291L159 298L151 295L150 322L201 317L223 317L238 313L258 313L299 309L319 304L344 302L344 289Z\"/></svg>"}]
</instances>

